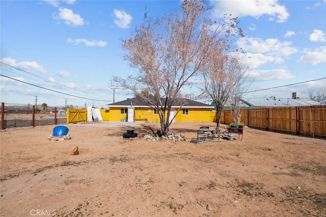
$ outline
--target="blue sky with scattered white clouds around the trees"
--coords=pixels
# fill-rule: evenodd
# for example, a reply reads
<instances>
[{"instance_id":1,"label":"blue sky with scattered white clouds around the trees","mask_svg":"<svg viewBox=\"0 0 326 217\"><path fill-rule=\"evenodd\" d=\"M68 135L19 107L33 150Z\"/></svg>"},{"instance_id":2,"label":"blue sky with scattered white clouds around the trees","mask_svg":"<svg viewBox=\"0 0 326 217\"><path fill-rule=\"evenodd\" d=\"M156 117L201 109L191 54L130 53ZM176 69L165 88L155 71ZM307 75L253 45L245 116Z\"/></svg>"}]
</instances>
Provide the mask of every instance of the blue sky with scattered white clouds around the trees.
<instances>
[{"instance_id":1,"label":"blue sky with scattered white clouds around the trees","mask_svg":"<svg viewBox=\"0 0 326 217\"><path fill-rule=\"evenodd\" d=\"M209 17L238 17L246 36L251 98L304 98L326 87L326 0L205 1ZM132 98L111 85L134 73L122 41L142 24L181 10L180 1L0 1L0 91L5 105L105 107ZM277 88L274 88L277 87ZM210 104L211 102L204 102Z\"/></svg>"}]
</instances>

